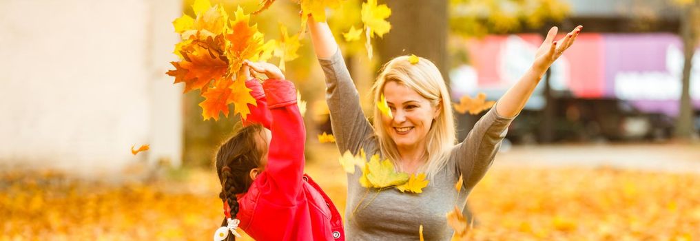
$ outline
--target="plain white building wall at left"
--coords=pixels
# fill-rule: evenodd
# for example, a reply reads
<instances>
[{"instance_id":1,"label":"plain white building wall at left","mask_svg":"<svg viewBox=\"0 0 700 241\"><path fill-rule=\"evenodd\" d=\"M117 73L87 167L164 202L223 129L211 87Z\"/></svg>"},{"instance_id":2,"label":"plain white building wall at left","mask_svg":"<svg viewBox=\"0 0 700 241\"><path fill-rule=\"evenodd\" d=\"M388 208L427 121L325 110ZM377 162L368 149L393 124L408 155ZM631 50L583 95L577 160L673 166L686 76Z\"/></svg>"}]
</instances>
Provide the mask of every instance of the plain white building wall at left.
<instances>
[{"instance_id":1,"label":"plain white building wall at left","mask_svg":"<svg viewBox=\"0 0 700 241\"><path fill-rule=\"evenodd\" d=\"M0 167L179 165L183 95L165 71L180 14L175 0L0 1Z\"/></svg>"}]
</instances>

